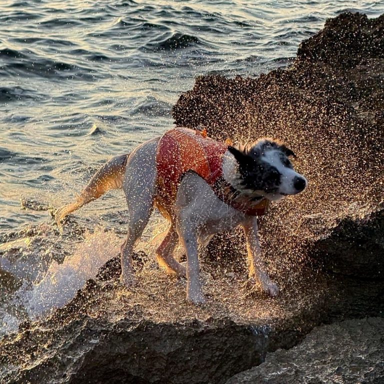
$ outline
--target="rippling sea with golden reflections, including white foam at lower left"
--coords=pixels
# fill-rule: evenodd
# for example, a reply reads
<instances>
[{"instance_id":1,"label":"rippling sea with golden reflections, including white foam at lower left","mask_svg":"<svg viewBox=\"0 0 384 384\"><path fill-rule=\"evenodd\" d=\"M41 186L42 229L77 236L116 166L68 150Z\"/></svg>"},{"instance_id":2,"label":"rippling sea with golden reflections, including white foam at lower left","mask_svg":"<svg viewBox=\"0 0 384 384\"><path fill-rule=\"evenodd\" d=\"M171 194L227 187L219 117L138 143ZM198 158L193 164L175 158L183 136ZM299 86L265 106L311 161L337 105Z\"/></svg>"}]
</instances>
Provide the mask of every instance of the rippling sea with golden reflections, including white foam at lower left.
<instances>
[{"instance_id":1,"label":"rippling sea with golden reflections, including white foam at lower left","mask_svg":"<svg viewBox=\"0 0 384 384\"><path fill-rule=\"evenodd\" d=\"M346 10L377 17L384 2L1 1L0 335L65 304L118 252L118 191L75 213L91 230L80 242L82 229L61 236L49 209L109 157L171 127L196 76L286 66Z\"/></svg>"}]
</instances>

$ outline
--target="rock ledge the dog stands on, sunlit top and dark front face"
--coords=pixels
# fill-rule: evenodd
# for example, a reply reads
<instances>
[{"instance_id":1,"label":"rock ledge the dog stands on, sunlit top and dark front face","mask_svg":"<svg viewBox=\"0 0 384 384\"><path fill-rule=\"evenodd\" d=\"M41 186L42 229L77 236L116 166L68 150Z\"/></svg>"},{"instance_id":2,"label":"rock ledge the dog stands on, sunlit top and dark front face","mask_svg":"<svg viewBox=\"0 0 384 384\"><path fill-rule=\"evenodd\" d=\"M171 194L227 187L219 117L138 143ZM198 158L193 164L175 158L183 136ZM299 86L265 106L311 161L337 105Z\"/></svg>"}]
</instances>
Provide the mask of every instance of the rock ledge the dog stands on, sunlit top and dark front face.
<instances>
[{"instance_id":1,"label":"rock ledge the dog stands on, sunlit top and dark front face","mask_svg":"<svg viewBox=\"0 0 384 384\"><path fill-rule=\"evenodd\" d=\"M150 259L130 290L117 278L87 280L63 308L0 340L1 380L220 383L259 364L267 351L296 344L318 322L321 280L312 282L315 295L296 286L272 299L246 295L246 275L219 270L214 278L207 266L201 306L185 301L184 279Z\"/></svg>"}]
</instances>

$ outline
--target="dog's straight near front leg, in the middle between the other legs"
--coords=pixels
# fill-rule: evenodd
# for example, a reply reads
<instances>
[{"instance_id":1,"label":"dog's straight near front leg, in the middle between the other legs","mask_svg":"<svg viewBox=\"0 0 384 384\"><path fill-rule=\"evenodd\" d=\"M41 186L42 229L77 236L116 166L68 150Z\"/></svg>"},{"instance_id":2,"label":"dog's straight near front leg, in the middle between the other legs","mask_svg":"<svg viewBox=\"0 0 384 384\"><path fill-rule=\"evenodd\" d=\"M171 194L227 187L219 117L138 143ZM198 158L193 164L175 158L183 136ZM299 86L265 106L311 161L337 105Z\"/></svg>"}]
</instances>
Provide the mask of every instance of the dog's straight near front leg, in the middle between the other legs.
<instances>
[{"instance_id":1,"label":"dog's straight near front leg, in the middle between the other legs","mask_svg":"<svg viewBox=\"0 0 384 384\"><path fill-rule=\"evenodd\" d=\"M186 299L195 304L203 303L205 299L201 290L197 236L188 218L179 218L177 221L177 233L186 253Z\"/></svg>"}]
</instances>

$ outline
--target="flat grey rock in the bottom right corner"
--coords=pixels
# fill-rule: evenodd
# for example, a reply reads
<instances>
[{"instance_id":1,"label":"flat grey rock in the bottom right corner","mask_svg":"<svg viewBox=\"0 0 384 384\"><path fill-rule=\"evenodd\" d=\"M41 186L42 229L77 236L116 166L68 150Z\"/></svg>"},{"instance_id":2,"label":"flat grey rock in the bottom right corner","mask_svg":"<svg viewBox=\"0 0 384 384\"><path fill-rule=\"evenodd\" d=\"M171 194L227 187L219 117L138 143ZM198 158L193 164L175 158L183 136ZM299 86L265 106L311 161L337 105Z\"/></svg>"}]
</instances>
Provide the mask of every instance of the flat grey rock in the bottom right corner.
<instances>
[{"instance_id":1,"label":"flat grey rock in the bottom right corner","mask_svg":"<svg viewBox=\"0 0 384 384\"><path fill-rule=\"evenodd\" d=\"M289 350L269 353L226 384L378 384L384 379L384 319L368 317L314 328Z\"/></svg>"}]
</instances>

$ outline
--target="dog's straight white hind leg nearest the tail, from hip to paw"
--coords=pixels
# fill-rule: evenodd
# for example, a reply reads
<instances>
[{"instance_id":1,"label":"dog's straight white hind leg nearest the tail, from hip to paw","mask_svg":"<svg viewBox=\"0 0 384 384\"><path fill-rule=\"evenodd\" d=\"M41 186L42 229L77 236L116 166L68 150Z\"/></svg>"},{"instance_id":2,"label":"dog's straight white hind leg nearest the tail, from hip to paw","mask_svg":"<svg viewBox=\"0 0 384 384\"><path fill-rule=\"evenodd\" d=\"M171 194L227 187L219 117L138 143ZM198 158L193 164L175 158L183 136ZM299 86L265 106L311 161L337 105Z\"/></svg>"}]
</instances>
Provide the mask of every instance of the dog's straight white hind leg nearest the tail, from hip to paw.
<instances>
[{"instance_id":1,"label":"dog's straight white hind leg nearest the tail, from hip to paw","mask_svg":"<svg viewBox=\"0 0 384 384\"><path fill-rule=\"evenodd\" d=\"M157 141L138 146L126 164L123 189L128 205L128 234L121 246L120 281L127 287L133 282L132 251L148 223L155 197Z\"/></svg>"}]
</instances>

